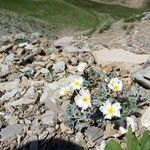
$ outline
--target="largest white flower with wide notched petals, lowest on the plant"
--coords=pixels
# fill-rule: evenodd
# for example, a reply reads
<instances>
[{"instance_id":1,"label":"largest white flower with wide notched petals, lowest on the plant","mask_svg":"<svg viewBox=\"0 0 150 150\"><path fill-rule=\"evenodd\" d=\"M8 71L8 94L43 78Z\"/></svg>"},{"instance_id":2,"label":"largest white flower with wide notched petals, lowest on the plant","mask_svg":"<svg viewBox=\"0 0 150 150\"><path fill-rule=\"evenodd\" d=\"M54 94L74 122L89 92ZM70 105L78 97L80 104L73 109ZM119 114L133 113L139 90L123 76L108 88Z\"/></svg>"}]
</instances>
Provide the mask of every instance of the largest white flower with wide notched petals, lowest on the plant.
<instances>
[{"instance_id":1,"label":"largest white flower with wide notched petals, lowest on the plant","mask_svg":"<svg viewBox=\"0 0 150 150\"><path fill-rule=\"evenodd\" d=\"M106 103L100 107L100 110L105 115L105 119L111 119L112 117L120 117L120 103L116 102L111 104L110 101L106 101Z\"/></svg>"}]
</instances>

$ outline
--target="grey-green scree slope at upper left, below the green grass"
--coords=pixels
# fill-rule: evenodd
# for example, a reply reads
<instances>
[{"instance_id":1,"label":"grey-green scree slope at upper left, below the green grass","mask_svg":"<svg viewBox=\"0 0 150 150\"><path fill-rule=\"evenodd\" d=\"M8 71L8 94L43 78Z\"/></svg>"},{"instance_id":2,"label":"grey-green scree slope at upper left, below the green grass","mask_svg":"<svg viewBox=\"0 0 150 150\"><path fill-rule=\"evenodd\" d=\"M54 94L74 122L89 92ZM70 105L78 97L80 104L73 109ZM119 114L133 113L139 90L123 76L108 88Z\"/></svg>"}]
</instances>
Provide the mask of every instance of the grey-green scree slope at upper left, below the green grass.
<instances>
[{"instance_id":1,"label":"grey-green scree slope at upper left, below the green grass","mask_svg":"<svg viewBox=\"0 0 150 150\"><path fill-rule=\"evenodd\" d=\"M16 14L7 10L0 10L0 45L6 39L13 39L16 34L31 34L38 32L55 38L57 29L46 22L28 15Z\"/></svg>"}]
</instances>

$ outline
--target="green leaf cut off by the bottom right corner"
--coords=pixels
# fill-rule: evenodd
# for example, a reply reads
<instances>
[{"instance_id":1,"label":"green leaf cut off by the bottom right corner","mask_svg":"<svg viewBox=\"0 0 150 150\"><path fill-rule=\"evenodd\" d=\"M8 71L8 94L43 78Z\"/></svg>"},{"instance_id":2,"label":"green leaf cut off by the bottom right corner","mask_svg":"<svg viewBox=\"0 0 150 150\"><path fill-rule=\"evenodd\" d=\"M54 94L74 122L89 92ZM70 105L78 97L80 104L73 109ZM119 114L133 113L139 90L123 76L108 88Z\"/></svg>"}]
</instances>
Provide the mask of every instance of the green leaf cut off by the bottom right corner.
<instances>
[{"instance_id":1,"label":"green leaf cut off by the bottom right corner","mask_svg":"<svg viewBox=\"0 0 150 150\"><path fill-rule=\"evenodd\" d=\"M150 131L145 131L139 140L142 150L150 150Z\"/></svg>"}]
</instances>

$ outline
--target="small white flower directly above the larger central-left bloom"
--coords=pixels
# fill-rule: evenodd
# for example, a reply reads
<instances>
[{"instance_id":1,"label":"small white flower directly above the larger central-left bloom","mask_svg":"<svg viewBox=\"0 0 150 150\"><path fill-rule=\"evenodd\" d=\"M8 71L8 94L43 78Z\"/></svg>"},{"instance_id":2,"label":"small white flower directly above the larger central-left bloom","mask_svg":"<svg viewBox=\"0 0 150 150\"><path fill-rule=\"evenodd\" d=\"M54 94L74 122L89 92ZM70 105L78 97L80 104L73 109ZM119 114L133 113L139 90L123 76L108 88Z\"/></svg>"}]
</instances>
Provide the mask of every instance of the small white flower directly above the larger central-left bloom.
<instances>
[{"instance_id":1,"label":"small white flower directly above the larger central-left bloom","mask_svg":"<svg viewBox=\"0 0 150 150\"><path fill-rule=\"evenodd\" d=\"M71 87L73 90L76 90L76 89L80 89L81 86L83 84L83 78L82 77L79 77L79 78L76 78L73 80L73 82L71 83Z\"/></svg>"}]
</instances>

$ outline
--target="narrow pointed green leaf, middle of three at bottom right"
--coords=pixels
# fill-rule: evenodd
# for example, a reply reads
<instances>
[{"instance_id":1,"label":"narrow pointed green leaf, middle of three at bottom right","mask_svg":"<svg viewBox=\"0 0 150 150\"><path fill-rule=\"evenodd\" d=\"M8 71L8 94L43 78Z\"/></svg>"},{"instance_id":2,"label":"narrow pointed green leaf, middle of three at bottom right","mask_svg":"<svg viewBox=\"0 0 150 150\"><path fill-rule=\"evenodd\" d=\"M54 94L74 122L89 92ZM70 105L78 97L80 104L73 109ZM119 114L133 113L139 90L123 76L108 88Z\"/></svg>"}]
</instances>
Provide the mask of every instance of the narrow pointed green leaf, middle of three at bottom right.
<instances>
[{"instance_id":1,"label":"narrow pointed green leaf, middle of three at bottom right","mask_svg":"<svg viewBox=\"0 0 150 150\"><path fill-rule=\"evenodd\" d=\"M127 150L141 150L138 140L132 134L131 127L128 128L128 133L126 134L126 141L127 141Z\"/></svg>"}]
</instances>

